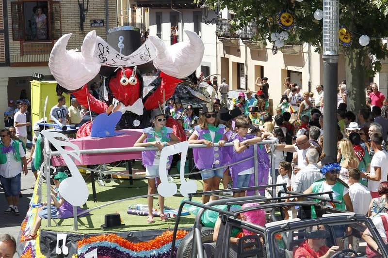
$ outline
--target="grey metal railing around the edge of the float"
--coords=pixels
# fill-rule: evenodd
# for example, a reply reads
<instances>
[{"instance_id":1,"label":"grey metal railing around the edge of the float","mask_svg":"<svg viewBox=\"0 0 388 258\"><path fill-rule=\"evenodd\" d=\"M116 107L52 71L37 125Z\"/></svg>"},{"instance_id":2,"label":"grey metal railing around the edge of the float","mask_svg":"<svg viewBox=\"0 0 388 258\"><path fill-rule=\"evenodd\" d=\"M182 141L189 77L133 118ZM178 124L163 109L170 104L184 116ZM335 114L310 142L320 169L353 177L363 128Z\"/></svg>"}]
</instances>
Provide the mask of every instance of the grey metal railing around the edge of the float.
<instances>
[{"instance_id":1,"label":"grey metal railing around the edge of the float","mask_svg":"<svg viewBox=\"0 0 388 258\"><path fill-rule=\"evenodd\" d=\"M44 143L45 143L45 146L44 146L44 160L45 160L45 167L46 167L46 179L47 179L46 183L47 183L47 197L48 197L48 201L47 201L47 206L48 206L47 207L47 210L48 210L48 223L47 223L47 226L51 227L51 214L50 214L51 202L49 201L49 198L50 198L50 180L49 180L49 178L50 178L50 160L51 160L51 156L53 156L53 155L60 155L60 152L51 152L50 147L49 147L49 140L47 138L45 138ZM237 163L244 162L244 161L246 161L248 159L251 159L251 158L254 159L254 164L255 164L255 166L254 166L255 186L258 186L258 179L259 179L259 171L258 171L258 166L257 166L257 164L259 163L258 152L257 152L258 145L270 145L271 146L271 153L274 153L274 151L275 151L275 144L277 144L277 143L278 143L278 139L277 138L270 138L269 140L262 140L259 143L255 143L255 144L253 144L254 156L236 162L236 164L237 164ZM230 143L226 143L225 144L225 147L229 147L229 146L232 147L233 143L230 142ZM214 143L212 147L219 147L219 144L218 143ZM190 144L189 145L189 149L194 149L194 148L207 148L207 146L204 145L204 144ZM81 155L81 154L96 154L96 153L101 154L101 153L118 153L118 152L142 152L142 151L155 151L155 150L157 150L156 147L126 147L126 148L106 148L106 149L80 150L79 152L80 152L80 155ZM68 151L68 152L74 152L75 153L77 151ZM270 156L271 156L271 178L272 178L272 182L276 182L275 167L272 166L272 164L275 163L275 157L274 157L274 155L270 155ZM225 165L223 167L229 167L230 165L231 164L228 164L228 165ZM211 169L209 169L209 171L216 170L216 169L219 169L219 168L221 168L221 167L211 168ZM83 168L83 169L90 170L89 168ZM100 171L100 172L103 172L103 171ZM185 174L185 176L189 176L189 175L193 175L193 174L197 174L197 173L201 173L201 172L203 172L203 171L194 172L194 173L187 173L187 174ZM129 176L133 176L133 175L129 175ZM171 175L169 175L169 176L171 176ZM144 176L144 178L146 178L146 177ZM256 190L256 195L258 195L258 193L259 193L258 191L259 190ZM276 189L275 189L275 187L273 187L273 189L272 189L272 196L275 196L275 192L276 192ZM155 195L157 195L157 194L155 194ZM154 196L154 195L146 195L146 196ZM81 212L80 214L77 214L77 207L73 206L74 230L75 231L78 230L78 221L77 221L78 215L90 212L91 210L95 210L95 209L102 208L102 207L105 207L105 206L108 206L108 205L112 205L112 204L115 204L115 203L118 203L118 202L126 201L126 200L129 200L129 199L137 199L137 198L146 197L146 196L130 197L130 198L125 198L125 199L121 199L121 200L115 200L115 201L112 201L110 203L105 203L103 205L94 207L92 209L85 210L85 211ZM55 222L55 220L54 220L54 222ZM57 224L57 223L55 222L55 224Z\"/></svg>"}]
</instances>

